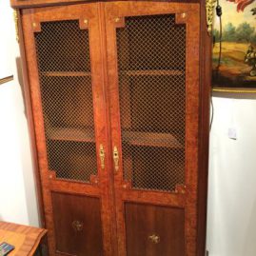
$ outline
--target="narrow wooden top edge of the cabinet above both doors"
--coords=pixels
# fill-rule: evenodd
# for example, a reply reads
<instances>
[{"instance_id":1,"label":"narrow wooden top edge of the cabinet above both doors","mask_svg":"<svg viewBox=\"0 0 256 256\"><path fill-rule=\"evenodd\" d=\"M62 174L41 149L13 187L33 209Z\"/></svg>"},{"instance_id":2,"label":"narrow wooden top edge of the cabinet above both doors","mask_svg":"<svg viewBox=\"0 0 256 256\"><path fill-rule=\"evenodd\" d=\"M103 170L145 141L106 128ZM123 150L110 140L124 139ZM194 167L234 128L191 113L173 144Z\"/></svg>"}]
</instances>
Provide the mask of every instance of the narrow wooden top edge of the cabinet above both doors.
<instances>
[{"instance_id":1,"label":"narrow wooden top edge of the cabinet above both doors","mask_svg":"<svg viewBox=\"0 0 256 256\"><path fill-rule=\"evenodd\" d=\"M87 3L87 2L110 2L113 0L10 0L10 6L15 9L32 8L32 7L46 7L57 5L68 5L75 3ZM127 0L121 0L127 1ZM137 0L131 0L137 1ZM142 0L146 1L146 0ZM199 3L203 0L148 0L148 2L183 2L183 3Z\"/></svg>"}]
</instances>

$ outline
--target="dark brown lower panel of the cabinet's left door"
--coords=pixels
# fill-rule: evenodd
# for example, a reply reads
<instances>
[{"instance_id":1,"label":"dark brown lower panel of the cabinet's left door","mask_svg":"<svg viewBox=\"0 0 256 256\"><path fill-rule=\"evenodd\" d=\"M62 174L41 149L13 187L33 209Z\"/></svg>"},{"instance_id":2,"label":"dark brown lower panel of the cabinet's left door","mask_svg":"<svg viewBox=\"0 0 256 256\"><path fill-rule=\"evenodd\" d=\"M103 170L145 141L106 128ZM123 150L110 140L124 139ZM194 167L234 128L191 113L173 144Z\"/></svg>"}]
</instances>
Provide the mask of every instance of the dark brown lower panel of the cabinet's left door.
<instances>
[{"instance_id":1,"label":"dark brown lower panel of the cabinet's left door","mask_svg":"<svg viewBox=\"0 0 256 256\"><path fill-rule=\"evenodd\" d=\"M103 255L100 199L52 192L56 251L63 255Z\"/></svg>"}]
</instances>

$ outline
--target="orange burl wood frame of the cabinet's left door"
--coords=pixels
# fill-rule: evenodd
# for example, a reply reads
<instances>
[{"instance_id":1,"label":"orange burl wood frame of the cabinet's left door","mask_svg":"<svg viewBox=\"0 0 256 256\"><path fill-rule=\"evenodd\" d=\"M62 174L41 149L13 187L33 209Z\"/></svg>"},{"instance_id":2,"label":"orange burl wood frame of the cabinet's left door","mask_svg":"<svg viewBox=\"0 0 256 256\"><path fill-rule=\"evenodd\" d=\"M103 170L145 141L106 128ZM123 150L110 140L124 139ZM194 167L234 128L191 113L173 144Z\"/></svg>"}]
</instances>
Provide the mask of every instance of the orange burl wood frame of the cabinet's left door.
<instances>
[{"instance_id":1,"label":"orange burl wood frame of the cabinet's left door","mask_svg":"<svg viewBox=\"0 0 256 256\"><path fill-rule=\"evenodd\" d=\"M28 67L29 81L27 86L30 89L31 108L36 136L36 148L38 152L38 163L44 200L46 226L49 229L49 254L55 255L56 236L59 230L56 229L53 221L53 206L51 191L66 191L74 194L100 197L101 219L103 222L103 245L104 254L112 255L111 230L110 230L110 207L109 207L109 158L108 152L108 126L106 125L107 108L105 104L105 88L103 75L103 61L101 54L101 36L99 26L99 4L89 3L83 5L59 6L52 8L38 8L22 10L22 26L24 31L24 42L26 61ZM52 21L77 20L81 30L89 30L89 52L91 64L91 89L93 94L93 114L95 125L96 152L99 152L100 145L105 148L105 169L101 168L99 154L97 153L98 173L91 177L91 183L81 183L69 180L56 179L55 173L49 169L46 132L44 126L44 115L41 102L41 89L39 72L37 66L34 34L40 32L41 23ZM88 20L85 26L84 20ZM99 50L100 49L100 50ZM87 209L85 209L87 210Z\"/></svg>"}]
</instances>

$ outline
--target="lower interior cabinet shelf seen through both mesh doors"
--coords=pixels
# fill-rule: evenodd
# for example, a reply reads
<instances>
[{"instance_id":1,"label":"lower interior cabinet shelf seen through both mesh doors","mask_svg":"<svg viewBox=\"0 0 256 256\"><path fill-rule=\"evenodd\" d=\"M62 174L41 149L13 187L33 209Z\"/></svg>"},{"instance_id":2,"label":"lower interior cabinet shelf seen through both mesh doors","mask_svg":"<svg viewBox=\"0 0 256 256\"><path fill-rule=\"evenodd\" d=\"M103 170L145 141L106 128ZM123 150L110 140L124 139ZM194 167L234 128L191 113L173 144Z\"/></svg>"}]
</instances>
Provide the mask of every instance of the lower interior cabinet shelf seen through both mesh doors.
<instances>
[{"instance_id":1,"label":"lower interior cabinet shelf seen through both mesh doors","mask_svg":"<svg viewBox=\"0 0 256 256\"><path fill-rule=\"evenodd\" d=\"M123 131L123 140L130 146L183 148L170 133ZM93 130L90 128L50 128L49 140L95 142Z\"/></svg>"}]
</instances>

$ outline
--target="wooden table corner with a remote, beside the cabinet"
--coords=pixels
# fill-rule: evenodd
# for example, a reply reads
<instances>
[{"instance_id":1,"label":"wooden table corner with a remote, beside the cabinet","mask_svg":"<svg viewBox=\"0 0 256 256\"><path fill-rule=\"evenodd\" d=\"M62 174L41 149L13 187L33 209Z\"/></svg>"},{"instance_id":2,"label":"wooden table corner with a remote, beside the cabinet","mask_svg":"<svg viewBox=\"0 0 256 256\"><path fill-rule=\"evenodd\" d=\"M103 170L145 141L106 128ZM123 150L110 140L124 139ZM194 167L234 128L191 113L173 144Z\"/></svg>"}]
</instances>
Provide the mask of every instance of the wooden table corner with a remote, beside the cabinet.
<instances>
[{"instance_id":1,"label":"wooden table corner with a remote, beside the cabinet","mask_svg":"<svg viewBox=\"0 0 256 256\"><path fill-rule=\"evenodd\" d=\"M15 246L9 256L33 255L46 233L44 228L0 222L0 243Z\"/></svg>"}]
</instances>

